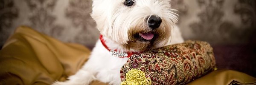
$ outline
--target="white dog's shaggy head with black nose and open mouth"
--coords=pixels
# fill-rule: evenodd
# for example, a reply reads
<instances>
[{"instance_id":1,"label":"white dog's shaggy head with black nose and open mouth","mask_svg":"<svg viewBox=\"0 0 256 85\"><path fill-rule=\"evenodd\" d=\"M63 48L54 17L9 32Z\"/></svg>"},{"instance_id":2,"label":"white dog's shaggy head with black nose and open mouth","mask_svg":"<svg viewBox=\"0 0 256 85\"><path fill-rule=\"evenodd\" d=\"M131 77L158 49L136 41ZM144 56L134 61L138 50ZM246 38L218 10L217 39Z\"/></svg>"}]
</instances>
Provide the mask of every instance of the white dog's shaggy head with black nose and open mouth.
<instances>
[{"instance_id":1,"label":"white dog's shaggy head with black nose and open mouth","mask_svg":"<svg viewBox=\"0 0 256 85\"><path fill-rule=\"evenodd\" d=\"M100 33L126 50L165 45L177 14L170 0L93 0L91 16Z\"/></svg>"}]
</instances>

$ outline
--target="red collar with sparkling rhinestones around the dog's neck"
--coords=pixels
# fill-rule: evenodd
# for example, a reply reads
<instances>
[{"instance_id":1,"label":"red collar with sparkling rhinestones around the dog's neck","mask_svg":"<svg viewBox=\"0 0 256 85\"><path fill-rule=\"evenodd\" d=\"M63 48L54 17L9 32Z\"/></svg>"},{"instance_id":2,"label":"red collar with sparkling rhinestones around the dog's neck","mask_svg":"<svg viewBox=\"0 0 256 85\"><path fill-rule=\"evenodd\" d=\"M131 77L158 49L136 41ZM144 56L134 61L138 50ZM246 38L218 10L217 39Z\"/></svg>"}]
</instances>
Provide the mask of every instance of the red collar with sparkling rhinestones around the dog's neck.
<instances>
[{"instance_id":1,"label":"red collar with sparkling rhinestones around the dog's neck","mask_svg":"<svg viewBox=\"0 0 256 85\"><path fill-rule=\"evenodd\" d=\"M110 51L113 56L117 56L117 57L131 57L131 55L137 54L137 53L135 53L135 52L130 52L130 51L128 51L127 53L119 53L119 52L117 52L117 50L110 50L110 49L108 48L108 46L106 45L105 40L103 39L103 35L102 35L102 34L100 34L99 39L100 39L100 41L102 42L102 45L103 45L108 51Z\"/></svg>"}]
</instances>

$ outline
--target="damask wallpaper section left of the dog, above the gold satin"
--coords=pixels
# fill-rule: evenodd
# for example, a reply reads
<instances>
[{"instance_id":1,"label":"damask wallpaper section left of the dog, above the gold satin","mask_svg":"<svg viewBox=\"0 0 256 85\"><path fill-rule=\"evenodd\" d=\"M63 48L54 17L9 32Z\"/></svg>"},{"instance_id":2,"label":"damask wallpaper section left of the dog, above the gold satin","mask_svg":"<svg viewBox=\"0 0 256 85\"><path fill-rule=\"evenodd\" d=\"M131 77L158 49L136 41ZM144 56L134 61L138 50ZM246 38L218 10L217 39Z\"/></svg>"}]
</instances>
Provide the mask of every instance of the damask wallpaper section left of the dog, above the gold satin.
<instances>
[{"instance_id":1,"label":"damask wallpaper section left of the dog, above the gold satin","mask_svg":"<svg viewBox=\"0 0 256 85\"><path fill-rule=\"evenodd\" d=\"M91 0L1 0L0 4L0 45L21 25L89 48L98 39L90 17Z\"/></svg>"}]
</instances>

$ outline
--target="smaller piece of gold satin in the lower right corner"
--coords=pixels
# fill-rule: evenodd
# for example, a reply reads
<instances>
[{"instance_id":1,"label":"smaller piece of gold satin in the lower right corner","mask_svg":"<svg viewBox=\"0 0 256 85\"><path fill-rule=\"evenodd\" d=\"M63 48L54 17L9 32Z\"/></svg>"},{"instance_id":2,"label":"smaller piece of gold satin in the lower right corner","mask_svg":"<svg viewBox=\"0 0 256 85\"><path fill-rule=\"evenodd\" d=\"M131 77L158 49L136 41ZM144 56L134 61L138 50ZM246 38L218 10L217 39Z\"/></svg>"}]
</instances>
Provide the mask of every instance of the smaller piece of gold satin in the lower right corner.
<instances>
[{"instance_id":1,"label":"smaller piece of gold satin in the lower right corner","mask_svg":"<svg viewBox=\"0 0 256 85\"><path fill-rule=\"evenodd\" d=\"M188 85L256 85L256 78L238 71L218 70L195 79Z\"/></svg>"}]
</instances>

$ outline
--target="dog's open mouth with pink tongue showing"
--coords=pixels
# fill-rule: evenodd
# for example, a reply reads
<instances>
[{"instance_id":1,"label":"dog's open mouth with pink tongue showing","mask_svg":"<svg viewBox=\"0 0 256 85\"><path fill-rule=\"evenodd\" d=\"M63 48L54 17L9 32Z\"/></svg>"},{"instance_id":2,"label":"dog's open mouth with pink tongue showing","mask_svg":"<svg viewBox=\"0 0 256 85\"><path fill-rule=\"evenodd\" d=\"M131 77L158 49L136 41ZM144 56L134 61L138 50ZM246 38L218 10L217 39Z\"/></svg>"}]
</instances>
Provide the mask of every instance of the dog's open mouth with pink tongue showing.
<instances>
[{"instance_id":1,"label":"dog's open mouth with pink tongue showing","mask_svg":"<svg viewBox=\"0 0 256 85\"><path fill-rule=\"evenodd\" d=\"M135 34L135 38L139 41L151 41L155 37L155 34L152 32L147 32L147 33L138 33Z\"/></svg>"}]
</instances>

